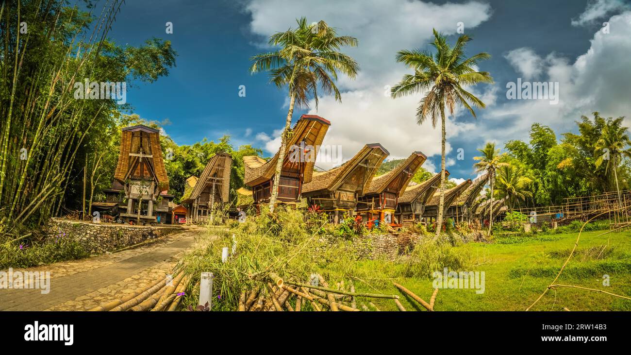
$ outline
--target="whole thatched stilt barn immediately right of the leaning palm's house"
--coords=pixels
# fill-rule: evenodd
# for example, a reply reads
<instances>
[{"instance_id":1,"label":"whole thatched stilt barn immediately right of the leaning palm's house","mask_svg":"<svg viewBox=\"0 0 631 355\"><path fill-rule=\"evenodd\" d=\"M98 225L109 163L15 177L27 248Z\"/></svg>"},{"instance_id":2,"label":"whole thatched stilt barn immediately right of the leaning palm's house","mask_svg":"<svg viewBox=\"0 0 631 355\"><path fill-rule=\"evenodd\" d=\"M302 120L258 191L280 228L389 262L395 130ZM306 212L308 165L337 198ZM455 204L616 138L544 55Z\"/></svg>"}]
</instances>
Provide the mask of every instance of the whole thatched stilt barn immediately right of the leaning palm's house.
<instances>
[{"instance_id":1,"label":"whole thatched stilt barn immediately right of the leaning palm's house","mask_svg":"<svg viewBox=\"0 0 631 355\"><path fill-rule=\"evenodd\" d=\"M329 215L331 222L337 224L344 215L353 214L358 196L365 193L388 155L379 143L367 144L339 167L314 172L312 181L304 184L302 196L307 198L309 206L317 206Z\"/></svg>"}]
</instances>

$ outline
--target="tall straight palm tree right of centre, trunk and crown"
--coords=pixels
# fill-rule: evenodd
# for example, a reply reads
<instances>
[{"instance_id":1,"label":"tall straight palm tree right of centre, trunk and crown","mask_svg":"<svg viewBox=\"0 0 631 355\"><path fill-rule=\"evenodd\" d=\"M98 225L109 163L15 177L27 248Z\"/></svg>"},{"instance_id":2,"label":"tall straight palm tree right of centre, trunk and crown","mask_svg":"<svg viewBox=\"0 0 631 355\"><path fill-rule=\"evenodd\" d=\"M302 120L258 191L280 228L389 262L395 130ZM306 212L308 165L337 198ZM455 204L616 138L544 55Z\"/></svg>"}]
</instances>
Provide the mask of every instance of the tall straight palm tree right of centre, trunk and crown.
<instances>
[{"instance_id":1,"label":"tall straight palm tree right of centre, trunk and crown","mask_svg":"<svg viewBox=\"0 0 631 355\"><path fill-rule=\"evenodd\" d=\"M440 203L436 226L436 235L440 233L442 215L445 202L445 107L453 116L456 105L464 106L473 117L475 107L485 107L485 104L472 93L464 90L463 85L478 83L493 83L493 78L486 71L477 71L478 62L488 59L488 53L479 53L466 58L464 46L471 38L467 35L458 37L454 47L447 43L444 35L433 30L435 54L430 51L403 50L399 51L396 59L399 63L414 70L413 74L406 74L397 85L391 89L393 99L404 95L420 93L422 99L416 109L416 123L422 124L431 119L435 128L440 117L442 128L440 155ZM469 104L469 102L471 104Z\"/></svg>"}]
</instances>

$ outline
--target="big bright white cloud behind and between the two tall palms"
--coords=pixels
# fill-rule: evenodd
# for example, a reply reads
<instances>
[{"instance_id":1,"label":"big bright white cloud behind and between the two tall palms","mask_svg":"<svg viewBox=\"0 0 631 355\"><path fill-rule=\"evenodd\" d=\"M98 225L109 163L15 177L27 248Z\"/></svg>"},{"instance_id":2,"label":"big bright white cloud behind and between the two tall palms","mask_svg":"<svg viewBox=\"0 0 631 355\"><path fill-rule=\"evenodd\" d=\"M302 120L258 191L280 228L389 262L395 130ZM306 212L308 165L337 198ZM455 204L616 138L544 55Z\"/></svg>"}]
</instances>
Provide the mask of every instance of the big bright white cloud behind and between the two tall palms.
<instances>
[{"instance_id":1,"label":"big bright white cloud behind and between the two tall palms","mask_svg":"<svg viewBox=\"0 0 631 355\"><path fill-rule=\"evenodd\" d=\"M325 20L338 28L339 35L358 38L358 47L343 49L360 63L361 71L356 80L340 76L337 84L342 90L342 103L333 97L321 97L317 111L311 105L309 112L331 121L324 144L342 145L344 159L350 159L366 143L375 142L389 150L391 158L408 157L415 150L428 157L439 155L440 126L433 129L429 122L416 124L420 95L396 100L384 95L386 85L394 85L409 71L396 63L395 54L401 49L425 49L432 28L447 35L456 34L458 22L464 23L466 31L487 21L491 13L489 4L477 1L438 5L408 0L387 4L378 0L252 0L246 10L252 15L252 32L265 39L274 32L295 27L295 18L305 15L309 22ZM493 89L488 90L480 94L494 102ZM447 139L473 128L473 124L454 122L453 117L447 119ZM278 147L278 142L267 144L266 149ZM447 153L451 151L449 142L445 149ZM428 165L426 162L425 167Z\"/></svg>"}]
</instances>

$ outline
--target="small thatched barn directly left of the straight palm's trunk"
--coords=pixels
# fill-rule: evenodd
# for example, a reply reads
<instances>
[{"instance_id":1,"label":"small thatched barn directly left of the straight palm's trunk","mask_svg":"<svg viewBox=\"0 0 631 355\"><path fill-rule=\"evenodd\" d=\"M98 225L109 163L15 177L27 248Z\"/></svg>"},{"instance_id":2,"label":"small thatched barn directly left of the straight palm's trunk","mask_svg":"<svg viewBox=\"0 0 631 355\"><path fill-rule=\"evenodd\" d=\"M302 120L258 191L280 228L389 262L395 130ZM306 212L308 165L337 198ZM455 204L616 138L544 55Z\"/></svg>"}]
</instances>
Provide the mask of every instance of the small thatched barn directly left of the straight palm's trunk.
<instances>
[{"instance_id":1,"label":"small thatched barn directly left of the straight palm's trunk","mask_svg":"<svg viewBox=\"0 0 631 355\"><path fill-rule=\"evenodd\" d=\"M445 179L449 177L449 171L445 170ZM427 203L432 200L440 187L440 173L422 183L410 183L403 194L399 196L396 217L404 227L411 226L422 221Z\"/></svg>"}]
</instances>

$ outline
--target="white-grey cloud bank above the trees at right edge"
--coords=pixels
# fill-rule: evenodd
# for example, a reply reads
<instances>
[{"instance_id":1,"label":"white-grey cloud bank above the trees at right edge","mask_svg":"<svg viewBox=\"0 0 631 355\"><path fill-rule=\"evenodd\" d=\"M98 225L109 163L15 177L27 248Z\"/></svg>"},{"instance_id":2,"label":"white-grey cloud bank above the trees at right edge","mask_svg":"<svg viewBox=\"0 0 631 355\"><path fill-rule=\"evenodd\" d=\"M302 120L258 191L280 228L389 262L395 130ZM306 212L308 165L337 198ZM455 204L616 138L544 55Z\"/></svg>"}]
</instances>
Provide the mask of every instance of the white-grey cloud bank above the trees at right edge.
<instances>
[{"instance_id":1,"label":"white-grey cloud bank above the trees at right edge","mask_svg":"<svg viewBox=\"0 0 631 355\"><path fill-rule=\"evenodd\" d=\"M631 70L628 61L620 58L631 57L631 11L612 16L609 22L610 33L594 33L589 49L574 63L555 53L534 59L542 63L540 80L558 81L557 105L550 105L549 100L510 100L487 109L475 131L466 136L495 140L501 147L507 140L528 140L530 126L536 122L560 134L574 129L581 115L592 117L594 111L604 117L629 117ZM506 89L500 90L504 95Z\"/></svg>"}]
</instances>

